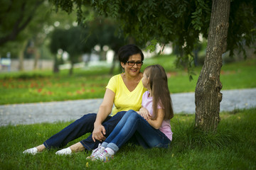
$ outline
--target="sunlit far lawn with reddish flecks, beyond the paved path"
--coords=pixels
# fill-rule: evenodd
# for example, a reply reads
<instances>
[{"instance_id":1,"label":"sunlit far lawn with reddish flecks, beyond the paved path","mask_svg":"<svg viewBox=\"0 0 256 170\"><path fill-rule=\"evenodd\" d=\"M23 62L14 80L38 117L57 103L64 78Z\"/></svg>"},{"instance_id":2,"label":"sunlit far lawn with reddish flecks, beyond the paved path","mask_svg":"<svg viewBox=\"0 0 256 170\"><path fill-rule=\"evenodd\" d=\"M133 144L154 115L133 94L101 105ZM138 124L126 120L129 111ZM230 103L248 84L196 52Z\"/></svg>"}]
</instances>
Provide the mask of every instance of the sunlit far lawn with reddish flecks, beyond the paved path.
<instances>
[{"instance_id":1,"label":"sunlit far lawn with reddish flecks, beyond the paved path","mask_svg":"<svg viewBox=\"0 0 256 170\"><path fill-rule=\"evenodd\" d=\"M195 91L201 67L194 68L196 75L189 81L186 71L175 68L175 59L171 55L146 59L142 71L149 64L161 64L169 77L171 93ZM220 75L223 90L255 88L255 66L255 59L223 65ZM59 74L51 71L0 74L0 105L103 98L105 86L112 77L109 70L109 67L75 69L73 76L68 76L68 70L61 70ZM119 74L118 68L114 74Z\"/></svg>"}]
</instances>

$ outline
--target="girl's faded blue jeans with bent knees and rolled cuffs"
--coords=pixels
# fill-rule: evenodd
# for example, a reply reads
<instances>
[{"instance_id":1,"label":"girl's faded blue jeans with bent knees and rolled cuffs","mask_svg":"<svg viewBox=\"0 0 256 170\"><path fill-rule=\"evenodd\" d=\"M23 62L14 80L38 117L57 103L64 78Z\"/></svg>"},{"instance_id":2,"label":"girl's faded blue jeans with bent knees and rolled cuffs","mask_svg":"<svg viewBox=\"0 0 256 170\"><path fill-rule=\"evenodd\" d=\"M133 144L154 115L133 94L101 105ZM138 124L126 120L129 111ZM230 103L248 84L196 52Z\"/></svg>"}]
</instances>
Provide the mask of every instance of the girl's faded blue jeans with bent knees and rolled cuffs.
<instances>
[{"instance_id":1,"label":"girl's faded blue jeans with bent knees and rolled cuffs","mask_svg":"<svg viewBox=\"0 0 256 170\"><path fill-rule=\"evenodd\" d=\"M167 148L171 141L160 130L156 130L135 111L127 111L112 133L107 137L102 147L110 147L117 152L130 137L135 136L139 145L145 148Z\"/></svg>"}]
</instances>

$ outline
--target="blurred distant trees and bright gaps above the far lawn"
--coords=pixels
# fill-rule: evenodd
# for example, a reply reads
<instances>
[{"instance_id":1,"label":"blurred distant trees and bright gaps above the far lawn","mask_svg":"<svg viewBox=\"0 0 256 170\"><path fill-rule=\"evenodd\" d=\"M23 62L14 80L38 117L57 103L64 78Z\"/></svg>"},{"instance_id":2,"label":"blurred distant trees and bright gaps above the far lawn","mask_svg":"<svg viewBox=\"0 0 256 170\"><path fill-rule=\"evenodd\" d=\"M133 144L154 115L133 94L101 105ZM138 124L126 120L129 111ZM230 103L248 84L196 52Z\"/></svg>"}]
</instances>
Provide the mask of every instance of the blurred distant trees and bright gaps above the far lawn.
<instances>
[{"instance_id":1,"label":"blurred distant trees and bright gaps above the far lawn","mask_svg":"<svg viewBox=\"0 0 256 170\"><path fill-rule=\"evenodd\" d=\"M52 69L58 73L62 69L89 68L92 66L118 67L119 47L135 43L139 47L146 45L135 42L132 37L124 37L119 23L112 18L104 18L92 7L83 9L85 19L78 26L77 13L56 11L49 1L1 1L0 6L0 72L20 72ZM193 51L194 64L203 64L206 40L199 38ZM176 47L166 44L161 54L176 55ZM146 57L154 57L154 52L144 50ZM253 50L247 49L249 58L255 57ZM223 55L225 63L242 60L242 55L228 57Z\"/></svg>"}]
</instances>

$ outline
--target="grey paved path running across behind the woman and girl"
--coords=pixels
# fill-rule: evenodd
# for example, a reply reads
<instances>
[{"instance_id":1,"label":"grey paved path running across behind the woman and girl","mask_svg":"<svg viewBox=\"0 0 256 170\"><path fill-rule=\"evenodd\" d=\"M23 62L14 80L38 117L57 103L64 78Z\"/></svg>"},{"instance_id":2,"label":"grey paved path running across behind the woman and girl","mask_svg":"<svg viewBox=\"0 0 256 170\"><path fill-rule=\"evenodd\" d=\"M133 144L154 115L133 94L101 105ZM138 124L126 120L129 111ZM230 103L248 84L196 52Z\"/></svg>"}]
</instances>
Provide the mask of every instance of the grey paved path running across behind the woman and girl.
<instances>
[{"instance_id":1,"label":"grey paved path running across behind the woman and girl","mask_svg":"<svg viewBox=\"0 0 256 170\"><path fill-rule=\"evenodd\" d=\"M256 89L221 92L223 101L220 103L220 111L256 107ZM171 94L174 113L194 114L196 108L194 96L194 93ZM0 126L76 120L86 113L97 113L100 103L102 98L2 105L0 106Z\"/></svg>"}]
</instances>

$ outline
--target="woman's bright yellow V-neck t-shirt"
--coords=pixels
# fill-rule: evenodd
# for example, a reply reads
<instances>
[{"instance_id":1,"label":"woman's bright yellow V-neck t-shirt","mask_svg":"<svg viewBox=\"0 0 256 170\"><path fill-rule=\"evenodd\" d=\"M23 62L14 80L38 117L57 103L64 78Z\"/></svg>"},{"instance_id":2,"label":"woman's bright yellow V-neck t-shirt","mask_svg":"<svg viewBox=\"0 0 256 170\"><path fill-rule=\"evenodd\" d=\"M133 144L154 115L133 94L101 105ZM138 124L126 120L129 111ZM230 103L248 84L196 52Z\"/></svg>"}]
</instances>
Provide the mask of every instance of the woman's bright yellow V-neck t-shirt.
<instances>
[{"instance_id":1,"label":"woman's bright yellow V-neck t-shirt","mask_svg":"<svg viewBox=\"0 0 256 170\"><path fill-rule=\"evenodd\" d=\"M108 82L107 89L114 92L114 108L112 109L112 115L115 115L119 111L139 111L142 107L142 95L146 91L142 85L142 80L133 91L129 91L125 86L121 74L113 76Z\"/></svg>"}]
</instances>

